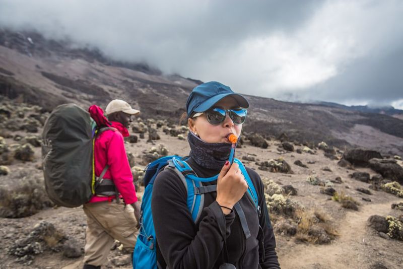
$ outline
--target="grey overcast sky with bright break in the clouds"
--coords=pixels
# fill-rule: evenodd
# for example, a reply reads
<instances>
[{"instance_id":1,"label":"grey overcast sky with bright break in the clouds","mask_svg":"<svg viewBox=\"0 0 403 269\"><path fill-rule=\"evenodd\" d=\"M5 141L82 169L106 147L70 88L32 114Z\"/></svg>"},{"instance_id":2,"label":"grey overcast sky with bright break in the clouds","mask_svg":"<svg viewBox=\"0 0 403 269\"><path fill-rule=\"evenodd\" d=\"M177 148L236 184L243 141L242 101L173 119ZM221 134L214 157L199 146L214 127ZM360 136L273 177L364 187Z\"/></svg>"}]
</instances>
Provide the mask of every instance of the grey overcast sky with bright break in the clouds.
<instances>
[{"instance_id":1,"label":"grey overcast sky with bright break in the clouds","mask_svg":"<svg viewBox=\"0 0 403 269\"><path fill-rule=\"evenodd\" d=\"M0 0L0 26L289 101L403 109L403 1Z\"/></svg>"}]
</instances>

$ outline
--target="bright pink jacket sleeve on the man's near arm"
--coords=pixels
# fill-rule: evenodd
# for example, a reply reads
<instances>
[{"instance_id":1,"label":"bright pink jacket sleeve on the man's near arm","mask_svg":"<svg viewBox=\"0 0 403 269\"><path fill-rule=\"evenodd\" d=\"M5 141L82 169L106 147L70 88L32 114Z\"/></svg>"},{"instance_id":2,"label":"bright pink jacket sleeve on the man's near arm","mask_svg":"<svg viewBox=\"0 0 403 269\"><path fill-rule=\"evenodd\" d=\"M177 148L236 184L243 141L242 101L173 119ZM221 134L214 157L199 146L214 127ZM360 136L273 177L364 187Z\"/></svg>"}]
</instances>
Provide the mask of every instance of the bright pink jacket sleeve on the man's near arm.
<instances>
[{"instance_id":1,"label":"bright pink jacket sleeve on the man's near arm","mask_svg":"<svg viewBox=\"0 0 403 269\"><path fill-rule=\"evenodd\" d=\"M135 185L122 134L114 131L107 148L109 171L113 183L124 199L125 204L133 204L137 201Z\"/></svg>"}]
</instances>

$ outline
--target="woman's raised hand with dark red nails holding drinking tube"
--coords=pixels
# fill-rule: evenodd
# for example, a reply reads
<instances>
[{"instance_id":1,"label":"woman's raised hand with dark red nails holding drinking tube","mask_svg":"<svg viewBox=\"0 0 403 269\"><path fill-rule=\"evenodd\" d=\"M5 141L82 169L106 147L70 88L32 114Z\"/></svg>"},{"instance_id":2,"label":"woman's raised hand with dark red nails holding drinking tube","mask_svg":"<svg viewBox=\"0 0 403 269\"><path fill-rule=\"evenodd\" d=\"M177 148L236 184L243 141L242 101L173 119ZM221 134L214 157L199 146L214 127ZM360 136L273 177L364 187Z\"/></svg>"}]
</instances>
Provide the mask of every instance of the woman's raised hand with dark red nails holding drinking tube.
<instances>
[{"instance_id":1,"label":"woman's raised hand with dark red nails holding drinking tube","mask_svg":"<svg viewBox=\"0 0 403 269\"><path fill-rule=\"evenodd\" d=\"M220 206L232 209L245 194L248 184L238 164L233 163L231 166L229 164L227 161L218 175L216 201ZM221 209L224 214L231 213L231 210L223 207Z\"/></svg>"}]
</instances>

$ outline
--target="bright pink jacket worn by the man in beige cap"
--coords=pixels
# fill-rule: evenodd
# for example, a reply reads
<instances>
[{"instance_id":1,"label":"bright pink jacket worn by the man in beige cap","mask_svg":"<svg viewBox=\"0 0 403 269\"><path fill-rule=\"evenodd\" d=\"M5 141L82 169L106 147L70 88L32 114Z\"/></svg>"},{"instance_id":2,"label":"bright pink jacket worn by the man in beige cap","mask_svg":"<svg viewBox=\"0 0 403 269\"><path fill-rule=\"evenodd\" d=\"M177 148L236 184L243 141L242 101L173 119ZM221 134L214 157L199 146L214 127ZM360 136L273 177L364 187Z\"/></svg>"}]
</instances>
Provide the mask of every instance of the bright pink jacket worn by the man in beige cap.
<instances>
[{"instance_id":1,"label":"bright pink jacket worn by the man in beige cap","mask_svg":"<svg viewBox=\"0 0 403 269\"><path fill-rule=\"evenodd\" d=\"M119 122L110 122L117 130L105 130L95 140L95 175L99 176L102 170L109 165L104 178L112 179L121 194L125 204L137 201L136 189L133 185L133 176L126 156L122 133L128 134L127 129ZM115 196L93 196L89 203L111 200Z\"/></svg>"}]
</instances>

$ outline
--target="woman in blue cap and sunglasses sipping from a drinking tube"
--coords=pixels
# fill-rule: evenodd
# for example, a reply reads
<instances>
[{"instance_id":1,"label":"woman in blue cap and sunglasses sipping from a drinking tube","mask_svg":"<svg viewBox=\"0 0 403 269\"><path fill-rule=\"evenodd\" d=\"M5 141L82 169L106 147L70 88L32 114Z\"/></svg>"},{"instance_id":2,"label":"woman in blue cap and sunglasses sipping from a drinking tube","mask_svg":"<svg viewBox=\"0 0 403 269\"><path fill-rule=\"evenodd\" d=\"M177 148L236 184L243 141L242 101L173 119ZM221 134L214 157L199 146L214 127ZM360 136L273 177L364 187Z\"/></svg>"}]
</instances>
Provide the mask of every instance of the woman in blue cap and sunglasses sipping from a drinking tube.
<instances>
[{"instance_id":1,"label":"woman in blue cap and sunglasses sipping from a drinking tube","mask_svg":"<svg viewBox=\"0 0 403 269\"><path fill-rule=\"evenodd\" d=\"M194 223L179 176L170 169L158 174L152 213L161 268L280 268L263 183L246 168L257 192L257 210L245 175L237 163L228 161L229 135L240 137L248 107L243 96L218 82L201 84L190 93L186 162L198 177L218 174L217 180L204 183L217 187L205 193L203 211Z\"/></svg>"}]
</instances>

